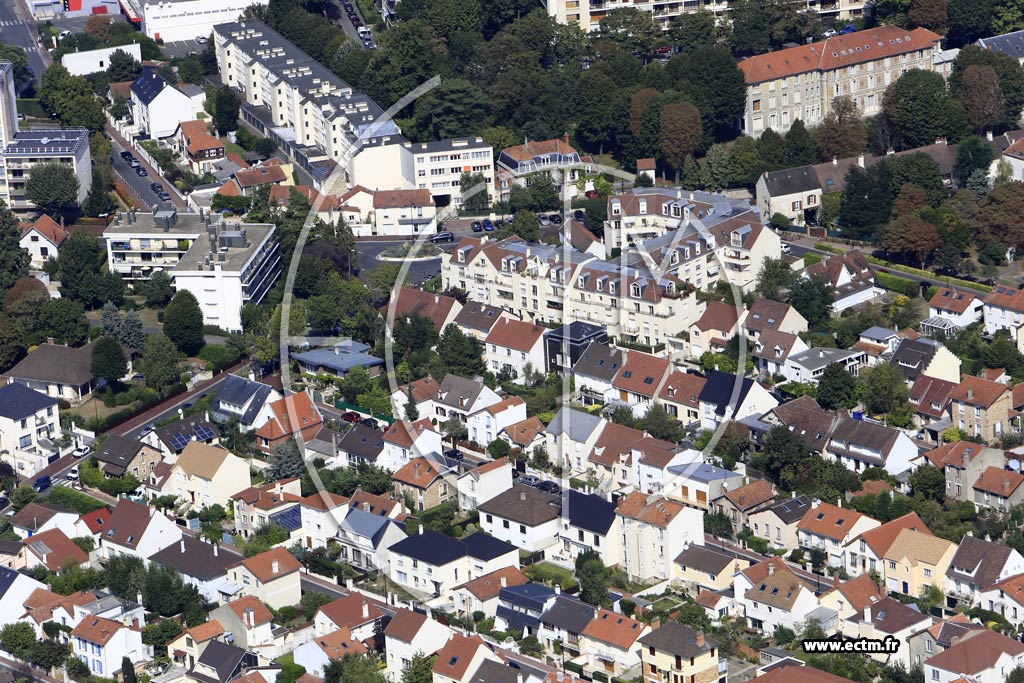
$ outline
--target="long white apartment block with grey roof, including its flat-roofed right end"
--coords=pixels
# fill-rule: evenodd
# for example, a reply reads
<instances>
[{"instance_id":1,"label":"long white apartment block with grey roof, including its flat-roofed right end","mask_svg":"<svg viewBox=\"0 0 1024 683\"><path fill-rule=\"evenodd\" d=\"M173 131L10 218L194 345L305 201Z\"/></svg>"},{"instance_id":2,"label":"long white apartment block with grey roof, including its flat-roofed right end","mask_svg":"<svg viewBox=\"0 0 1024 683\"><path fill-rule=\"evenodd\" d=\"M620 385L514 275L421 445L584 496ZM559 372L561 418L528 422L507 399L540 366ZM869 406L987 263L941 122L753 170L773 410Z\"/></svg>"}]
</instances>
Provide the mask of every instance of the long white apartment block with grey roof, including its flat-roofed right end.
<instances>
[{"instance_id":1,"label":"long white apartment block with grey roof, including its flat-roofed right end","mask_svg":"<svg viewBox=\"0 0 1024 683\"><path fill-rule=\"evenodd\" d=\"M213 43L246 121L280 138L317 183L340 167L347 187L425 189L438 206L458 207L462 174L478 173L494 198L494 152L482 139L410 142L376 102L262 22L218 25Z\"/></svg>"}]
</instances>

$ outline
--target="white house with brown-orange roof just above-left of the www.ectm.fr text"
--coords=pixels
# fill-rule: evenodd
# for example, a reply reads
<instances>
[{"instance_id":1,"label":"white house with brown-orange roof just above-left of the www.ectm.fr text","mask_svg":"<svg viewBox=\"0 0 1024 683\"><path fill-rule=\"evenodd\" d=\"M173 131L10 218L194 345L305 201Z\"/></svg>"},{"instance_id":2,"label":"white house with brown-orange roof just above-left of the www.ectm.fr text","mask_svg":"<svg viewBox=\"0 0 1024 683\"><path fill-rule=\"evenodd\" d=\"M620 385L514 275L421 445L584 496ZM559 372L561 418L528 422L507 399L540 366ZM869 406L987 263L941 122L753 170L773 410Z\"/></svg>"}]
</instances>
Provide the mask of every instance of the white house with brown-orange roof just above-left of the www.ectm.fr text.
<instances>
[{"instance_id":1,"label":"white house with brown-orange roof just above-left of the www.ectm.fr text","mask_svg":"<svg viewBox=\"0 0 1024 683\"><path fill-rule=\"evenodd\" d=\"M780 626L799 629L818 606L814 586L795 574L779 558L739 571L732 584L743 616L752 628L763 633L774 633Z\"/></svg>"}]
</instances>

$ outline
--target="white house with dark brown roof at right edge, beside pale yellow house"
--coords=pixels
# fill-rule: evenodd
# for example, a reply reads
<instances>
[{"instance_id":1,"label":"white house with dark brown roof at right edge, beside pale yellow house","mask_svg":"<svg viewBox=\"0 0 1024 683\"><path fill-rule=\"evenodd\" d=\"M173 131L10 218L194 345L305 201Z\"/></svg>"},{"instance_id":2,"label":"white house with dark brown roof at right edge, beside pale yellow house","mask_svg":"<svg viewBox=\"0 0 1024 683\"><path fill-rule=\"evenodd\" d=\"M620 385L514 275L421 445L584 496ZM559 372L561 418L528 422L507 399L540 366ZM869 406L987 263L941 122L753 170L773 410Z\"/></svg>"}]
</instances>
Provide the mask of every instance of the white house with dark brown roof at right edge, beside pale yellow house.
<instances>
[{"instance_id":1,"label":"white house with dark brown roof at right edge, beside pale yellow house","mask_svg":"<svg viewBox=\"0 0 1024 683\"><path fill-rule=\"evenodd\" d=\"M946 569L945 591L954 600L975 605L982 600L982 590L1019 573L1024 573L1024 556L969 531L961 539ZM1021 614L1024 616L1024 612Z\"/></svg>"}]
</instances>

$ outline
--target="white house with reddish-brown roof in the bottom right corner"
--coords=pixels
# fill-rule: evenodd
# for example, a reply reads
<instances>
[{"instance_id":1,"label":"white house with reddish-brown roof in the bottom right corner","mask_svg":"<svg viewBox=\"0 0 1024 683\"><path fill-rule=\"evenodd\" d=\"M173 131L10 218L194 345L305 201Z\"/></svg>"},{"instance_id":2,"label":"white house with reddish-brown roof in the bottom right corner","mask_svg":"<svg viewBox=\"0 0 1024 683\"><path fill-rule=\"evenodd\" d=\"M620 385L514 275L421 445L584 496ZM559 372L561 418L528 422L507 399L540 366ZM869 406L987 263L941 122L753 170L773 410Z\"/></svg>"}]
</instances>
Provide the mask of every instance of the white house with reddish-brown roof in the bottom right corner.
<instances>
[{"instance_id":1,"label":"white house with reddish-brown roof in the bottom right corner","mask_svg":"<svg viewBox=\"0 0 1024 683\"><path fill-rule=\"evenodd\" d=\"M1024 644L995 631L978 629L925 660L925 680L953 683L1002 683L1014 669L1024 667Z\"/></svg>"}]
</instances>

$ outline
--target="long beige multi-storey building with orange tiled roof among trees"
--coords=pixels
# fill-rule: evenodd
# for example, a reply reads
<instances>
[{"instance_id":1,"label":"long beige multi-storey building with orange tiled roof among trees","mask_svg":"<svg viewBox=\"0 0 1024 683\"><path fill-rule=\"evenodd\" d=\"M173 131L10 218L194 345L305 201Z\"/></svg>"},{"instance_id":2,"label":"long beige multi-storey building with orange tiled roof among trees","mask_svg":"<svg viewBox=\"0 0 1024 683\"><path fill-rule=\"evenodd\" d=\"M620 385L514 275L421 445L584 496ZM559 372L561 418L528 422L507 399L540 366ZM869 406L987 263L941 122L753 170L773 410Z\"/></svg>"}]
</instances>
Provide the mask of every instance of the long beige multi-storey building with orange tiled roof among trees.
<instances>
[{"instance_id":1,"label":"long beige multi-storey building with orange tiled roof among trees","mask_svg":"<svg viewBox=\"0 0 1024 683\"><path fill-rule=\"evenodd\" d=\"M880 26L749 57L742 130L784 132L798 119L820 124L836 97L853 99L863 116L882 111L889 85L912 69L932 71L941 37L927 29Z\"/></svg>"}]
</instances>

